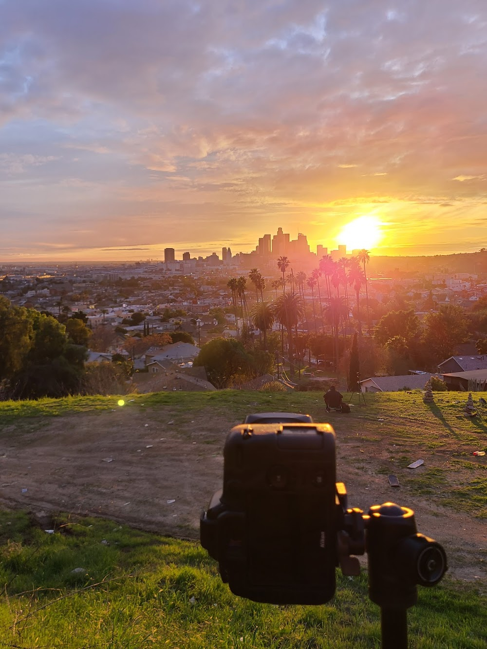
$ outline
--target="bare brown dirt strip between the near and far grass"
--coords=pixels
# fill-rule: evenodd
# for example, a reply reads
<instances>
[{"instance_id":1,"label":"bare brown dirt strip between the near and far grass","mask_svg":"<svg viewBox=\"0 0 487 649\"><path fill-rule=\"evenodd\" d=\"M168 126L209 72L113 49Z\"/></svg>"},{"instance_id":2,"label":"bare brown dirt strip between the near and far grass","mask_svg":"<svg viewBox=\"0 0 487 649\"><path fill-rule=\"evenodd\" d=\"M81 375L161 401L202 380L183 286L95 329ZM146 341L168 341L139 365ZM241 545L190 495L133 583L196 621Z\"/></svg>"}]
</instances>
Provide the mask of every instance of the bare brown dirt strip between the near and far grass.
<instances>
[{"instance_id":1,"label":"bare brown dirt strip between the near and far grass","mask_svg":"<svg viewBox=\"0 0 487 649\"><path fill-rule=\"evenodd\" d=\"M237 423L125 408L19 420L0 435L0 502L32 511L47 527L52 513L68 511L197 538L200 512L221 488L225 436ZM393 500L411 507L418 531L445 547L451 576L487 582L485 520L392 489L374 468L380 448L366 468L362 455L358 468L356 443L338 437L337 446L349 506L368 511Z\"/></svg>"}]
</instances>

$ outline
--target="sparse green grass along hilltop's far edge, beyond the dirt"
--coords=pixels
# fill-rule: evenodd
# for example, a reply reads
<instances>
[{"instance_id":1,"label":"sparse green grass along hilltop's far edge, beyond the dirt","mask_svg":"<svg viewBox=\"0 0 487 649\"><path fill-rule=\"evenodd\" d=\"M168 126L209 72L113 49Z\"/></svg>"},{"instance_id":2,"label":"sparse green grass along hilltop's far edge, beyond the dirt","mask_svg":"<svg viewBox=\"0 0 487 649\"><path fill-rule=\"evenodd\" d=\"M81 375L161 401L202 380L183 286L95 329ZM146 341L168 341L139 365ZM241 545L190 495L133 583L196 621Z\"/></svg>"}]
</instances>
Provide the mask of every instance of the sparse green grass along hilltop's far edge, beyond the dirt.
<instances>
[{"instance_id":1,"label":"sparse green grass along hilltop's far edge, beyond the dirt","mask_svg":"<svg viewBox=\"0 0 487 649\"><path fill-rule=\"evenodd\" d=\"M122 397L0 402L0 439L16 431L38 430L51 417L74 417L79 413L106 416L119 409L119 398ZM123 399L127 415L144 411L147 421L151 417L155 421L174 421L173 430L182 437L188 436L195 421L218 421L220 428L223 421L230 428L250 412L309 413L315 421L333 424L339 441L339 468L340 463L352 460L356 466L371 462L378 473L397 474L401 484L412 493L434 493L437 502L447 507L487 518L487 456L472 456L474 450L487 450L487 411L479 408L476 418L464 417L464 393L434 393L433 404L423 403L421 391L367 394L365 408L363 404L358 407L354 395L350 415L328 415L319 392L171 391L128 395ZM346 452L340 457L342 442ZM363 452L351 458L346 445L357 442ZM205 443L221 445L219 435L212 435ZM406 469L418 458L425 460L423 467L415 471Z\"/></svg>"}]
</instances>

